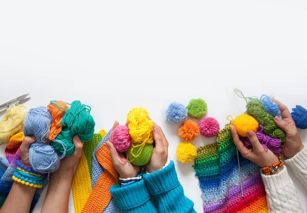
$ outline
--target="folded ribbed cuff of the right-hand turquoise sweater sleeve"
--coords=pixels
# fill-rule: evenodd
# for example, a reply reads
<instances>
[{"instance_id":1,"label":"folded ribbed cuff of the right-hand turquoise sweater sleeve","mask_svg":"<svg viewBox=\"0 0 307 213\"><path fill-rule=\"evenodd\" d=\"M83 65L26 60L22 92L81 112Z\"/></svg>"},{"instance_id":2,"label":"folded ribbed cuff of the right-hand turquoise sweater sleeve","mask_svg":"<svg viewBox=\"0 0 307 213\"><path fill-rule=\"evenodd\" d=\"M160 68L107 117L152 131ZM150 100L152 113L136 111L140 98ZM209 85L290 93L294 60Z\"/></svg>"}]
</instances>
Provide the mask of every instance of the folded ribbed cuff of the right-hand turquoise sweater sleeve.
<instances>
[{"instance_id":1,"label":"folded ribbed cuff of the right-hand turquoise sweater sleeve","mask_svg":"<svg viewBox=\"0 0 307 213\"><path fill-rule=\"evenodd\" d=\"M170 161L169 165L160 171L144 174L143 179L152 196L165 193L180 185L173 161Z\"/></svg>"}]
</instances>

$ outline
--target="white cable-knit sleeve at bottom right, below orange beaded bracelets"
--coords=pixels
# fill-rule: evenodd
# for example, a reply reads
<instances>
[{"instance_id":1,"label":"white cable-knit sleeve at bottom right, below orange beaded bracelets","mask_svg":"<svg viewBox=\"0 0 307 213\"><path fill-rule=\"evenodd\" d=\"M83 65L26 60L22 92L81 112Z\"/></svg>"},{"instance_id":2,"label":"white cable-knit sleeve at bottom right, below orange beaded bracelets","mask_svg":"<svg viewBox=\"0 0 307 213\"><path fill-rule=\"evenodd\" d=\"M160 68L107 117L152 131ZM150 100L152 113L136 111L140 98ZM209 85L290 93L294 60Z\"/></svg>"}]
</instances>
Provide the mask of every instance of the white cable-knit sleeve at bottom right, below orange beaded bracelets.
<instances>
[{"instance_id":1,"label":"white cable-knit sleeve at bottom right, below orange beaded bracelets","mask_svg":"<svg viewBox=\"0 0 307 213\"><path fill-rule=\"evenodd\" d=\"M265 184L270 213L303 212L286 166L276 175L261 174L261 177Z\"/></svg>"}]
</instances>

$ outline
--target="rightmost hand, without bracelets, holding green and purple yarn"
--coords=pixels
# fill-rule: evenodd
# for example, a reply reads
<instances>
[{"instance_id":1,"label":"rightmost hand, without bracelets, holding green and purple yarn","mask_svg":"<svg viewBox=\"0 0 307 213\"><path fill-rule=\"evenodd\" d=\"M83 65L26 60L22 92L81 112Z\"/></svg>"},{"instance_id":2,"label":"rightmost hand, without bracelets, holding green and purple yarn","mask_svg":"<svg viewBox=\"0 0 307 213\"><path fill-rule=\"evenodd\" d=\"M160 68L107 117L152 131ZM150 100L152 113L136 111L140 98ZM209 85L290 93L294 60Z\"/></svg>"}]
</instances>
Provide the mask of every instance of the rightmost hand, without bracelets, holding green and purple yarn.
<instances>
[{"instance_id":1,"label":"rightmost hand, without bracelets, holding green and purple yarn","mask_svg":"<svg viewBox=\"0 0 307 213\"><path fill-rule=\"evenodd\" d=\"M273 102L279 104L279 110L281 118L276 116L274 118L276 125L278 125L284 132L286 132L286 143L282 147L281 154L286 158L290 159L299 153L303 148L302 141L298 134L295 122L291 117L286 105L282 104L275 98L272 99Z\"/></svg>"}]
</instances>

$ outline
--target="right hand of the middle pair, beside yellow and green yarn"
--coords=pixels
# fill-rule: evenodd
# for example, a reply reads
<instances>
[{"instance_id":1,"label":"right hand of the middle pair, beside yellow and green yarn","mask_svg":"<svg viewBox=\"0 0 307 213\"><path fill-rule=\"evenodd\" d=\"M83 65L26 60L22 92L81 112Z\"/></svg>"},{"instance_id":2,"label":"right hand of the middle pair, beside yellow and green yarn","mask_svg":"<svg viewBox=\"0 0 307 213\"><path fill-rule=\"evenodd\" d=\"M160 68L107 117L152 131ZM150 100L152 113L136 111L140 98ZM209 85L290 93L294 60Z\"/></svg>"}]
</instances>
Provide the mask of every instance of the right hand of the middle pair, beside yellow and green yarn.
<instances>
[{"instance_id":1,"label":"right hand of the middle pair, beside yellow and green yarn","mask_svg":"<svg viewBox=\"0 0 307 213\"><path fill-rule=\"evenodd\" d=\"M167 162L168 156L168 142L161 127L157 123L153 123L152 128L156 146L153 148L150 162L146 165L149 173L154 173L162 169Z\"/></svg>"}]
</instances>

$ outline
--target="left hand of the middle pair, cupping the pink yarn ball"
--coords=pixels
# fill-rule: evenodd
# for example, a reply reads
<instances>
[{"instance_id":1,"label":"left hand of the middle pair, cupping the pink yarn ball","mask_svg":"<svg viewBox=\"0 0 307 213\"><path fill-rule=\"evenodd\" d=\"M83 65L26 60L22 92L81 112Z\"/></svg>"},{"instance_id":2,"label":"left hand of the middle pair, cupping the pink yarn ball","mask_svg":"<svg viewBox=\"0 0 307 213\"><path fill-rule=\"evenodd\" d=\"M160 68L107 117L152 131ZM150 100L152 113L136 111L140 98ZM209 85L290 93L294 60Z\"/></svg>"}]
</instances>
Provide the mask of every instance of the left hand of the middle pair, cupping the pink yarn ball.
<instances>
[{"instance_id":1,"label":"left hand of the middle pair, cupping the pink yarn ball","mask_svg":"<svg viewBox=\"0 0 307 213\"><path fill-rule=\"evenodd\" d=\"M119 125L118 121L115 121L111 132L113 132L113 130L118 125ZM140 166L129 163L128 161L124 162L126 160L126 157L121 153L118 153L118 156L116 155L115 148L112 142L107 141L106 145L109 148L109 152L110 152L110 155L113 161L113 165L116 168L121 178L133 178L138 174L138 172L140 172ZM119 157L122 160L120 160Z\"/></svg>"}]
</instances>

